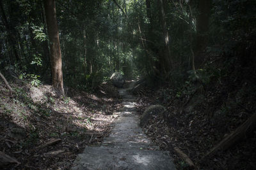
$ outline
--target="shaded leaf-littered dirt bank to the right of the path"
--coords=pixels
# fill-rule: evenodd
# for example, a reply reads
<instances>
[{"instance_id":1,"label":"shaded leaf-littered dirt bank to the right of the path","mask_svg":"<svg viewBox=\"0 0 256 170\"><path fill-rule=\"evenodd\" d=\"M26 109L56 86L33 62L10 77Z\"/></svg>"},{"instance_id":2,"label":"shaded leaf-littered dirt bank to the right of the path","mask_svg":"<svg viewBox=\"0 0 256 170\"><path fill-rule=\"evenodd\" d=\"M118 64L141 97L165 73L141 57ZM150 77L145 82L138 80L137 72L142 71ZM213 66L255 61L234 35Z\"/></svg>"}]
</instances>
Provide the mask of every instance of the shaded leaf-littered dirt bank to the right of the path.
<instances>
[{"instance_id":1,"label":"shaded leaf-littered dirt bank to the right of the path","mask_svg":"<svg viewBox=\"0 0 256 170\"><path fill-rule=\"evenodd\" d=\"M214 94L212 100L214 101L216 97L218 96ZM218 117L209 119L203 105L205 101L196 104L193 102L186 104L184 101L187 100L178 99L168 87L159 90L145 87L138 94L137 101L140 115L151 104L162 104L166 107L168 117L158 115L152 118L144 130L162 150L170 152L177 169L256 169L255 131L244 135L243 139L227 150L220 150L211 157L203 159L213 146L243 124L252 113L234 106L225 112L225 117L221 117L220 114ZM189 111L188 105L193 105ZM220 103L216 101L209 106L212 107L209 112L221 108ZM253 105L246 107L249 106L252 106L250 109L253 110ZM180 159L177 152L173 150L174 147L188 155L195 167L189 167L184 160Z\"/></svg>"}]
</instances>

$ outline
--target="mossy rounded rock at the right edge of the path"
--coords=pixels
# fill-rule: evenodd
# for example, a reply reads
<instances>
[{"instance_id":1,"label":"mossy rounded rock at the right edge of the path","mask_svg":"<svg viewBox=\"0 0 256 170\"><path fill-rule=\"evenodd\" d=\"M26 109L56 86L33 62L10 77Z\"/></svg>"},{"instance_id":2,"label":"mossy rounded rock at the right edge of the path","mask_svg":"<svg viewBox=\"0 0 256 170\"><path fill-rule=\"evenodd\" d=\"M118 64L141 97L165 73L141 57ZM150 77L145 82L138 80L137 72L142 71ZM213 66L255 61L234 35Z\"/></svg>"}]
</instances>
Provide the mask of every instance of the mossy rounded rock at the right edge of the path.
<instances>
[{"instance_id":1,"label":"mossy rounded rock at the right edge of the path","mask_svg":"<svg viewBox=\"0 0 256 170\"><path fill-rule=\"evenodd\" d=\"M144 127L145 125L147 125L148 120L150 120L150 118L152 118L152 116L154 116L154 115L161 115L162 113L164 113L164 111L166 111L164 106L161 106L161 105L149 106L144 111L142 117L140 118L140 126Z\"/></svg>"}]
</instances>

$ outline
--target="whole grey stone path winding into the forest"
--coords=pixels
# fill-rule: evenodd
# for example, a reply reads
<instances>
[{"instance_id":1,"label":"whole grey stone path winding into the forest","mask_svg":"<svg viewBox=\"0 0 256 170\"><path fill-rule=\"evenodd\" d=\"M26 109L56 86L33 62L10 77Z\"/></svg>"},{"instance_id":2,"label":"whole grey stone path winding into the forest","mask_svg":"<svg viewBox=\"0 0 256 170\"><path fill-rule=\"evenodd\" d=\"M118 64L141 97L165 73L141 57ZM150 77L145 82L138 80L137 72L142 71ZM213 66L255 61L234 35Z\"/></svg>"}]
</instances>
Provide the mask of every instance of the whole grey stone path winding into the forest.
<instances>
[{"instance_id":1,"label":"whole grey stone path winding into the forest","mask_svg":"<svg viewBox=\"0 0 256 170\"><path fill-rule=\"evenodd\" d=\"M77 155L72 169L175 169L172 158L159 151L138 126L136 99L127 90L119 90L124 109L108 138L104 138L102 146L85 148Z\"/></svg>"}]
</instances>

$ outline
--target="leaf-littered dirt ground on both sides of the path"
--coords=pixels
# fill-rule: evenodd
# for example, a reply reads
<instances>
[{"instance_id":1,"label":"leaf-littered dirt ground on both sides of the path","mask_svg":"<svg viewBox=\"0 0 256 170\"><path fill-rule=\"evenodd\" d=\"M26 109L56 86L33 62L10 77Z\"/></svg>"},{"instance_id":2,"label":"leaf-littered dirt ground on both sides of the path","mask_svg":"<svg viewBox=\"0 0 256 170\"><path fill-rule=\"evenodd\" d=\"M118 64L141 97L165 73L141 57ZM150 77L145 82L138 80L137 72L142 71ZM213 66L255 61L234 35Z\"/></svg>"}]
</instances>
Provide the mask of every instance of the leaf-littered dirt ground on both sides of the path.
<instances>
[{"instance_id":1,"label":"leaf-littered dirt ground on both sides of the path","mask_svg":"<svg viewBox=\"0 0 256 170\"><path fill-rule=\"evenodd\" d=\"M0 81L0 155L12 158L0 164L1 169L70 169L77 153L108 136L113 113L121 108L117 89L108 83L97 93L66 89L65 97L58 97L51 85L31 87L24 81L10 85L15 92ZM200 93L193 94L195 99L176 94L168 87L143 87L136 102L140 115L151 104L166 108L168 116L157 115L144 130L156 145L170 152L177 169L256 169L255 131L228 150L203 159L252 115L248 110L255 110L253 103L239 107L231 102L232 96L225 100L218 92L207 94L207 102ZM220 101L229 109L220 111ZM174 147L188 155L195 167L180 159Z\"/></svg>"}]
</instances>

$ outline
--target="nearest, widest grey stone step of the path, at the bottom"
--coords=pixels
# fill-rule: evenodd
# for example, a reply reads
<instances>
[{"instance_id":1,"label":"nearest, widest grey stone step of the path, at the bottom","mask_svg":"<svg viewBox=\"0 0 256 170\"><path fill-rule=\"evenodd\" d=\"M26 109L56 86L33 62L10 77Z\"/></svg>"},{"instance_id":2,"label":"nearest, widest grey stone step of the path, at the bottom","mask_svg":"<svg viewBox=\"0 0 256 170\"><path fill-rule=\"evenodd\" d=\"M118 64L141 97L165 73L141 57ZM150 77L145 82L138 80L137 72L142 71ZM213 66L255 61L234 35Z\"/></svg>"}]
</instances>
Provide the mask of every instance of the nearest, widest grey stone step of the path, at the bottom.
<instances>
[{"instance_id":1,"label":"nearest, widest grey stone step of the path, at the bottom","mask_svg":"<svg viewBox=\"0 0 256 170\"><path fill-rule=\"evenodd\" d=\"M73 170L79 169L175 169L169 155L156 150L88 147L77 156Z\"/></svg>"}]
</instances>

